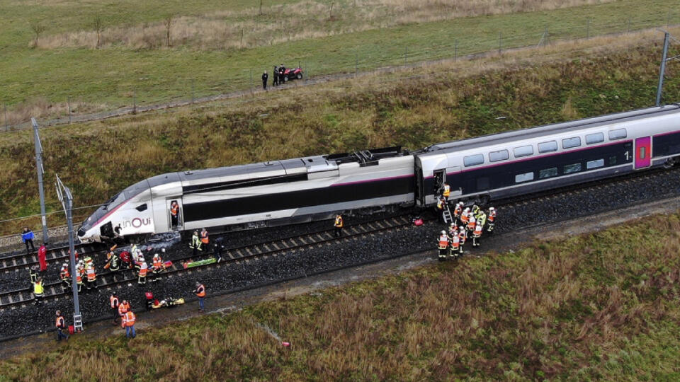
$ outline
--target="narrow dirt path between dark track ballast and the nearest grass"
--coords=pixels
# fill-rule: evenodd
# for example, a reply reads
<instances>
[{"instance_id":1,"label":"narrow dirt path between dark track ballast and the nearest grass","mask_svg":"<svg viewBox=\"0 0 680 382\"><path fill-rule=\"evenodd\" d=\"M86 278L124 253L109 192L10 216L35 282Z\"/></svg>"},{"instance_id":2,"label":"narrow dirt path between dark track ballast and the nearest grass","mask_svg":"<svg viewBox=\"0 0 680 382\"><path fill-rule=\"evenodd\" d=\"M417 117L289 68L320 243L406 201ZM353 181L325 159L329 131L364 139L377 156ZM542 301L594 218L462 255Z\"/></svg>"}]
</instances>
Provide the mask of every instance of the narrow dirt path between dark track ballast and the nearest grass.
<instances>
[{"instance_id":1,"label":"narrow dirt path between dark track ballast and the nearest grass","mask_svg":"<svg viewBox=\"0 0 680 382\"><path fill-rule=\"evenodd\" d=\"M552 240L599 231L608 226L622 224L626 221L639 219L644 216L677 212L678 209L680 209L680 197L672 197L640 204L634 207L604 212L602 214L589 216L587 219L561 221L554 224L526 228L521 231L506 233L502 236L487 238L485 241L482 241L482 243L486 251L495 250L500 252L519 248L522 245L537 240ZM502 219L502 216L500 218ZM473 255L477 257L483 254L485 254L485 251L476 250L473 252ZM422 265L431 264L436 261L436 252L435 250L432 250L426 253L416 253L370 265L350 267L344 270L296 279L290 282L281 282L268 287L223 294L222 296L208 296L208 299L206 299L206 311L207 313L226 314L261 301L286 299L327 287L347 284L349 282L397 274L404 270L421 267ZM463 258L463 261L465 261L465 258ZM200 316L200 314L201 313L198 313L198 303L196 301L188 301L183 306L178 306L176 308L163 308L158 311L139 313L136 328L137 330L142 330L140 335L143 336L144 330L147 328L160 327L167 323L187 320L188 318ZM86 325L86 331L79 335L90 338L103 338L111 335L123 336L125 335L125 331L121 329L120 326L113 326L110 321L105 320ZM1 343L0 349L2 351L0 352L0 359L6 359L22 354L23 352L35 351L37 349L46 350L54 345L54 332L23 337L18 340Z\"/></svg>"}]
</instances>

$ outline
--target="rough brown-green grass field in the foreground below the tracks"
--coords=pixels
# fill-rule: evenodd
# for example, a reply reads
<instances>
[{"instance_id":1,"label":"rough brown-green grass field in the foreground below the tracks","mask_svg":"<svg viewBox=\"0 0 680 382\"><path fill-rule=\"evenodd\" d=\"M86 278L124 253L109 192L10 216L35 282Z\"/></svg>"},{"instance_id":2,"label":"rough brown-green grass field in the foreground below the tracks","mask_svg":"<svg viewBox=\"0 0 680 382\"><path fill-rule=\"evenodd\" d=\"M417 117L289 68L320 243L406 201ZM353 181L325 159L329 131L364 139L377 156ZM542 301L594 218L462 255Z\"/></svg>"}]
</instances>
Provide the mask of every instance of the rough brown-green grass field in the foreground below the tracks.
<instances>
[{"instance_id":1,"label":"rough brown-green grass field in the foreground below the tracks","mask_svg":"<svg viewBox=\"0 0 680 382\"><path fill-rule=\"evenodd\" d=\"M130 342L73 339L0 362L0 381L676 381L679 232L655 216Z\"/></svg>"}]
</instances>

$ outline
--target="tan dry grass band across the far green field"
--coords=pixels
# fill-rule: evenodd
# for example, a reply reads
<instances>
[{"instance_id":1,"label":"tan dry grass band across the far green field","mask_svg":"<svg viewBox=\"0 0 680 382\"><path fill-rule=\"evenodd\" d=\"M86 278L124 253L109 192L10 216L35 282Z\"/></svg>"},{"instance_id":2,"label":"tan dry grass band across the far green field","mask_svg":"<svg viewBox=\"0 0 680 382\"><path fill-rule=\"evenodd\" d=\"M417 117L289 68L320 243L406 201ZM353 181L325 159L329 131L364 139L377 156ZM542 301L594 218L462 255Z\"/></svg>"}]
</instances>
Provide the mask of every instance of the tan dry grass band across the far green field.
<instances>
[{"instance_id":1,"label":"tan dry grass band across the far green field","mask_svg":"<svg viewBox=\"0 0 680 382\"><path fill-rule=\"evenodd\" d=\"M277 45L290 41L356 33L409 23L430 23L454 18L553 10L612 0L344 0L295 4L245 11L215 11L201 16L180 16L171 25L171 45L196 50L222 50ZM331 6L333 7L331 11ZM285 17L295 10L295 17ZM241 39L243 33L243 40ZM166 47L164 21L104 28L99 47L158 49ZM96 47L96 30L77 30L41 36L38 47ZM33 42L31 42L33 44Z\"/></svg>"}]
</instances>

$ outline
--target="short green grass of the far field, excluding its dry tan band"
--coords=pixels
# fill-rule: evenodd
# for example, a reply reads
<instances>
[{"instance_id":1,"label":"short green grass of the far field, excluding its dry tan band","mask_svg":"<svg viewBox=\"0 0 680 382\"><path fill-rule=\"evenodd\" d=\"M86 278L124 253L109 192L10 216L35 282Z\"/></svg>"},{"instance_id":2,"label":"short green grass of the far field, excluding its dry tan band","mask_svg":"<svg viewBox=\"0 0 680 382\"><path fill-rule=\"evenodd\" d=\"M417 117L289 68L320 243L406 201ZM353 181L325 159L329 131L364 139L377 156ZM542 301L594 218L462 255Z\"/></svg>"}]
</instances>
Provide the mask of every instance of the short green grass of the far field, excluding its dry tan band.
<instances>
[{"instance_id":1,"label":"short green grass of the far field, excluding its dry tan band","mask_svg":"<svg viewBox=\"0 0 680 382\"><path fill-rule=\"evenodd\" d=\"M254 8L254 3L245 1L234 4L235 9ZM221 8L211 1L199 1L196 6L180 1L167 5L160 1L129 2L127 7L120 6L124 9L120 12L118 6L71 5L0 4L0 13L16 15L9 23L11 27L0 33L0 45L4 46L0 58L1 100L11 106L40 97L64 103L70 97L93 108L131 105L133 97L138 104L159 103L191 98L192 81L196 96L248 88L251 72L257 86L261 71L271 70L279 62L289 66L300 62L309 74L318 76L354 71L356 66L366 70L402 64L404 54L408 62L452 57L455 40L459 41L458 54L494 50L499 45L499 33L504 36L504 47L536 45L545 28L549 28L551 40L584 37L588 18L592 19L590 34L596 35L624 31L629 19L632 28L647 28L668 20L676 22L680 17L677 12L666 13L676 5L671 0L623 0L554 11L395 25L244 50L202 51L191 46L161 50L125 46L30 49L29 23L33 19L45 18L48 34L86 28L97 13L103 15L107 25L138 25L159 21L169 12L198 14ZM79 11L84 12L82 16ZM333 23L329 21L327 28L334 28Z\"/></svg>"}]
</instances>

